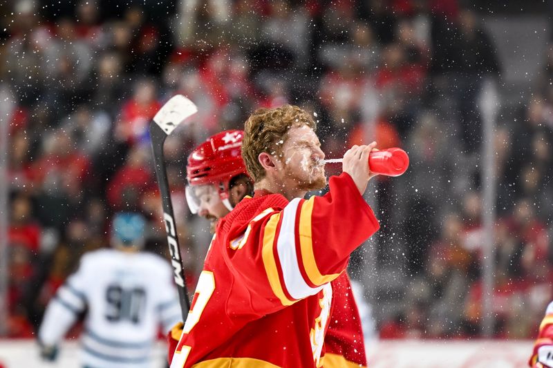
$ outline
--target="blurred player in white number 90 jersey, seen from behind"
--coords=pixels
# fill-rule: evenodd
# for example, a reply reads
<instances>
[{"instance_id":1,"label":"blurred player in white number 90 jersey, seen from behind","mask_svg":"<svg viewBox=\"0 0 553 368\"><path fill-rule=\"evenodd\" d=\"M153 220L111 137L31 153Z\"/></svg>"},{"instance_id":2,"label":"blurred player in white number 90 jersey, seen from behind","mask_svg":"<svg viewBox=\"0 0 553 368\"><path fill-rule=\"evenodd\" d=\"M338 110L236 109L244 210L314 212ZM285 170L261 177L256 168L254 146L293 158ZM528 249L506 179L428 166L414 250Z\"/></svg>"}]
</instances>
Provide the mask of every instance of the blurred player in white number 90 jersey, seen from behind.
<instances>
[{"instance_id":1,"label":"blurred player in white number 90 jersey, seen from behind","mask_svg":"<svg viewBox=\"0 0 553 368\"><path fill-rule=\"evenodd\" d=\"M86 311L84 367L150 367L160 325L166 333L181 317L168 262L140 252L144 226L142 215L118 213L113 249L83 255L46 308L38 334L43 358L55 360L57 345Z\"/></svg>"}]
</instances>

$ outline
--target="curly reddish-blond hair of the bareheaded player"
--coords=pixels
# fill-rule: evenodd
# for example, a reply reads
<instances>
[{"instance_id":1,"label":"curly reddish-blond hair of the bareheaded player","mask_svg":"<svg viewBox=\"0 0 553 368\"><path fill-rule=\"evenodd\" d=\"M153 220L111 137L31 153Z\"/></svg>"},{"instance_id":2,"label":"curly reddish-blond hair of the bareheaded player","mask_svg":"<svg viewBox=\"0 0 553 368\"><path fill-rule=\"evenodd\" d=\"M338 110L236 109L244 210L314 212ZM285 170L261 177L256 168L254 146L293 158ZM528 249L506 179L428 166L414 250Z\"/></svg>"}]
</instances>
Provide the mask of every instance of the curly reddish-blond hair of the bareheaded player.
<instances>
[{"instance_id":1,"label":"curly reddish-blond hair of the bareheaded player","mask_svg":"<svg viewBox=\"0 0 553 368\"><path fill-rule=\"evenodd\" d=\"M242 157L247 173L255 182L265 177L265 169L259 163L262 152L281 155L282 144L287 139L288 129L296 126L309 126L317 131L317 123L302 108L294 105L283 105L277 108L259 108L247 118L244 124Z\"/></svg>"}]
</instances>

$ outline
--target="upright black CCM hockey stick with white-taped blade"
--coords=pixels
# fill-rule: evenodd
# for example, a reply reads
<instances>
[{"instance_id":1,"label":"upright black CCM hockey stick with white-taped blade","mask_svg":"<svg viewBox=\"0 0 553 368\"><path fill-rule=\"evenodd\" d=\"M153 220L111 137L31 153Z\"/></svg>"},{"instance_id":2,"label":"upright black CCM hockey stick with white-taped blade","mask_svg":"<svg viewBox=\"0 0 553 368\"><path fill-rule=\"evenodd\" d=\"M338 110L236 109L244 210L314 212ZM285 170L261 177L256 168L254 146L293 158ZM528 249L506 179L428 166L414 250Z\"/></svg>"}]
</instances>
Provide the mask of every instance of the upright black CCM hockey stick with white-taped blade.
<instances>
[{"instance_id":1,"label":"upright black CCM hockey stick with white-taped blade","mask_svg":"<svg viewBox=\"0 0 553 368\"><path fill-rule=\"evenodd\" d=\"M186 320L190 310L190 300L188 298L188 289L186 287L184 267L180 248L178 246L178 237L173 213L173 204L171 202L171 193L169 192L169 181L167 180L167 167L163 155L163 144L165 138L187 117L191 117L198 112L196 105L182 95L171 97L165 105L160 108L156 116L150 122L151 148L153 151L153 163L156 167L156 177L161 192L161 202L163 204L163 221L165 222L165 231L167 231L167 243L169 244L169 254L171 255L171 265L175 283L177 284L178 296L180 300L180 309L182 311L182 320Z\"/></svg>"}]
</instances>

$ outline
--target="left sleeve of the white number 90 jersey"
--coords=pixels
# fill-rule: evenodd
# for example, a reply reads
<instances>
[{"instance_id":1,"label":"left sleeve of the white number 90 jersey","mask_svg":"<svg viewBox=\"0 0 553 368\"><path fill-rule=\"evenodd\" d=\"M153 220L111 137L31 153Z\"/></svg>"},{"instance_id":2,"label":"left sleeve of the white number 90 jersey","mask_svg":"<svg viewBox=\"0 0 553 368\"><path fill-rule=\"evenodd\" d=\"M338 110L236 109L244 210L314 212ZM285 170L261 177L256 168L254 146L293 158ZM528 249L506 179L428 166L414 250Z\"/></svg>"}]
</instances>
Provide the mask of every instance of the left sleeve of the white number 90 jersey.
<instances>
[{"instance_id":1,"label":"left sleeve of the white number 90 jersey","mask_svg":"<svg viewBox=\"0 0 553 368\"><path fill-rule=\"evenodd\" d=\"M48 303L39 328L39 341L46 346L57 345L73 326L80 313L86 309L86 256L79 269L57 289Z\"/></svg>"}]
</instances>

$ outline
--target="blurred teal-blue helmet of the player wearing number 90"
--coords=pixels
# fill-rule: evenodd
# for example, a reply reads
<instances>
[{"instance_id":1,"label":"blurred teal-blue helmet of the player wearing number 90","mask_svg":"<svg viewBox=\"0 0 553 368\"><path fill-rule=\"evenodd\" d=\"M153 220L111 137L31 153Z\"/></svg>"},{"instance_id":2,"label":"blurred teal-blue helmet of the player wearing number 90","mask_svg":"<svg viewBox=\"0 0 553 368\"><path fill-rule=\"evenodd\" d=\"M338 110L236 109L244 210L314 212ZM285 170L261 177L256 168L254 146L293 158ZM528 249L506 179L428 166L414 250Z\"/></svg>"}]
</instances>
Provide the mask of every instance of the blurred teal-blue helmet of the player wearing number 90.
<instances>
[{"instance_id":1,"label":"blurred teal-blue helmet of the player wearing number 90","mask_svg":"<svg viewBox=\"0 0 553 368\"><path fill-rule=\"evenodd\" d=\"M138 213L120 212L113 216L111 238L115 244L124 246L144 245L146 221Z\"/></svg>"}]
</instances>

